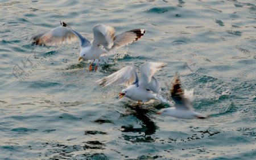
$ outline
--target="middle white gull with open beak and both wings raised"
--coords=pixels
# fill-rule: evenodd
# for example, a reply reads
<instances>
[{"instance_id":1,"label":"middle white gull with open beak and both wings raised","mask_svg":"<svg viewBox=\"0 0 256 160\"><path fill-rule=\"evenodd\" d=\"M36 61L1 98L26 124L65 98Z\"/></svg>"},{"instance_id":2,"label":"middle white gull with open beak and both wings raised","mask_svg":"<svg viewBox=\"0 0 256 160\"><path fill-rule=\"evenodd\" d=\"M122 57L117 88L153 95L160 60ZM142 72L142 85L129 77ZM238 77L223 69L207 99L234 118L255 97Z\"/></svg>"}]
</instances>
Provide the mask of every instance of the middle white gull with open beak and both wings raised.
<instances>
[{"instance_id":1,"label":"middle white gull with open beak and both wings raised","mask_svg":"<svg viewBox=\"0 0 256 160\"><path fill-rule=\"evenodd\" d=\"M119 99L125 96L131 100L138 101L138 104L150 100L166 102L166 100L160 96L160 82L154 77L155 72L159 71L164 66L166 66L166 63L162 62L147 62L142 64L139 68L141 80L139 80L135 69L127 66L114 72L112 75L97 80L97 83L103 87L108 85L125 85L127 88L119 93Z\"/></svg>"}]
</instances>

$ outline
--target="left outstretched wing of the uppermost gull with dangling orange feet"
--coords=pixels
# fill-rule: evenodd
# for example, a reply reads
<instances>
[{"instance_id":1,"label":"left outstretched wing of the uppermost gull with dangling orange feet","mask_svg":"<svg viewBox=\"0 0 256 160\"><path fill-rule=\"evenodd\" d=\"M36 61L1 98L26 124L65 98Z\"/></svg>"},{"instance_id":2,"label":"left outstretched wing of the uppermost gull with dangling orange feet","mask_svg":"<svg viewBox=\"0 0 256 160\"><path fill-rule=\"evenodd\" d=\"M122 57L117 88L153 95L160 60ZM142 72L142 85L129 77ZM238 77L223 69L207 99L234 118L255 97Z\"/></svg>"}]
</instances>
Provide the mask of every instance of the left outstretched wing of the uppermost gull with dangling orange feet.
<instances>
[{"instance_id":1,"label":"left outstretched wing of the uppermost gull with dangling orange feet","mask_svg":"<svg viewBox=\"0 0 256 160\"><path fill-rule=\"evenodd\" d=\"M80 41L80 46L90 45L86 38L75 30L71 29L67 24L62 23L60 27L53 28L51 31L38 34L31 38L33 45L59 45L73 41Z\"/></svg>"}]
</instances>

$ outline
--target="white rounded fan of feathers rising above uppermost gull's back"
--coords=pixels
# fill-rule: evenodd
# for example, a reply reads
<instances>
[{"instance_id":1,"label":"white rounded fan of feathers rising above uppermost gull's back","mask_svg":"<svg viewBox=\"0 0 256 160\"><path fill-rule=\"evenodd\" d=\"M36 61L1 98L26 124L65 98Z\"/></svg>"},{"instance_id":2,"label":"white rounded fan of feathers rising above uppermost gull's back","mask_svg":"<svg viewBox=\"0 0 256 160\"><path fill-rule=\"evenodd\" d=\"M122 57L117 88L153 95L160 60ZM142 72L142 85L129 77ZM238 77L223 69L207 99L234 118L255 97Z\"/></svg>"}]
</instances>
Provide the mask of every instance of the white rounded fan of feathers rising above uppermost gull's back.
<instances>
[{"instance_id":1,"label":"white rounded fan of feathers rising above uppermost gull's back","mask_svg":"<svg viewBox=\"0 0 256 160\"><path fill-rule=\"evenodd\" d=\"M106 49L110 49L114 44L115 29L108 25L99 24L93 27L93 45L104 46Z\"/></svg>"}]
</instances>

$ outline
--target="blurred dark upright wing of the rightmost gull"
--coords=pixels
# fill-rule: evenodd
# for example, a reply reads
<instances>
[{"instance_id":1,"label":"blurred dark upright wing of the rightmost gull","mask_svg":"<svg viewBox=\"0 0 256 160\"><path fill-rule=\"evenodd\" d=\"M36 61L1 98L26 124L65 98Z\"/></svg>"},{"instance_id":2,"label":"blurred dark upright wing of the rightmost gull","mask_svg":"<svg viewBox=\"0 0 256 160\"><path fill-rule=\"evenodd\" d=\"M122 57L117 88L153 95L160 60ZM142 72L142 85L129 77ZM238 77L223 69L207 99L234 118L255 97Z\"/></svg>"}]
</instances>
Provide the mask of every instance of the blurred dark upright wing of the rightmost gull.
<instances>
[{"instance_id":1,"label":"blurred dark upright wing of the rightmost gull","mask_svg":"<svg viewBox=\"0 0 256 160\"><path fill-rule=\"evenodd\" d=\"M188 95L191 93L188 93L187 90L185 93L183 92L183 90L181 89L180 79L177 74L174 77L174 80L172 80L170 92L171 92L172 100L174 100L175 107L177 109L183 109L183 110L192 109L191 101L188 98Z\"/></svg>"}]
</instances>

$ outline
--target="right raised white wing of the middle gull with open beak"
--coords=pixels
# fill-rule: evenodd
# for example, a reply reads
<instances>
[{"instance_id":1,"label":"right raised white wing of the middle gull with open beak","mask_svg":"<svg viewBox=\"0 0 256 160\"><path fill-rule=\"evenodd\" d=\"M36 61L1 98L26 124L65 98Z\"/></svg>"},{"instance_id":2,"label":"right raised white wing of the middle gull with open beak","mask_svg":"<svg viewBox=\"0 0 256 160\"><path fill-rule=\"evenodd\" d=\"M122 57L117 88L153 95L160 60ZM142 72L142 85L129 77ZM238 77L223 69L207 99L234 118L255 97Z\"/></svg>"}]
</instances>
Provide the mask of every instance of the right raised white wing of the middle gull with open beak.
<instances>
[{"instance_id":1,"label":"right raised white wing of the middle gull with open beak","mask_svg":"<svg viewBox=\"0 0 256 160\"><path fill-rule=\"evenodd\" d=\"M141 81L139 86L158 93L160 91L160 82L155 79L154 74L164 66L166 66L166 63L162 62L147 62L142 64L139 68L139 71L141 72Z\"/></svg>"}]
</instances>

